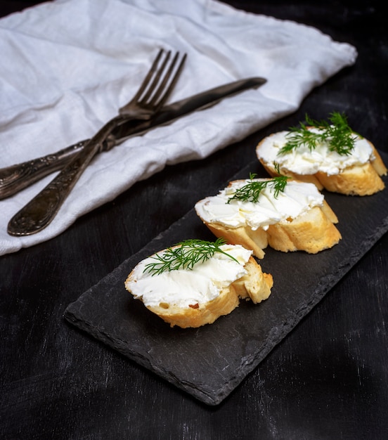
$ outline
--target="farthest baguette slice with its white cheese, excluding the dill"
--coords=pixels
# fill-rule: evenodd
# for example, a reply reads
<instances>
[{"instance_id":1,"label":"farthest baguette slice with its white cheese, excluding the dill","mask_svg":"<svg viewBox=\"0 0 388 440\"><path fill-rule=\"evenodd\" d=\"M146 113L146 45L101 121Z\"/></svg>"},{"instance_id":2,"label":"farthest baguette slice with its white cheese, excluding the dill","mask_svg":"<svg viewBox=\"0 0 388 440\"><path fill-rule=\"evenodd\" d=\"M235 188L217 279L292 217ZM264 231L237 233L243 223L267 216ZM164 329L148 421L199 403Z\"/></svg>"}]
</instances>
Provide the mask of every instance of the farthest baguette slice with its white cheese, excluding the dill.
<instances>
[{"instance_id":1,"label":"farthest baguette slice with its white cheese, excluding the dill","mask_svg":"<svg viewBox=\"0 0 388 440\"><path fill-rule=\"evenodd\" d=\"M357 136L354 152L344 157L337 153L321 155L308 148L278 155L288 133L271 134L257 145L257 157L270 176L277 176L280 172L292 179L314 183L318 190L344 195L372 195L384 189L381 176L387 174L387 167L375 145L367 139ZM278 164L278 169L275 164Z\"/></svg>"}]
</instances>

